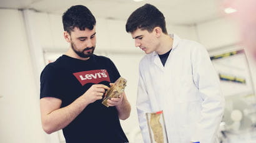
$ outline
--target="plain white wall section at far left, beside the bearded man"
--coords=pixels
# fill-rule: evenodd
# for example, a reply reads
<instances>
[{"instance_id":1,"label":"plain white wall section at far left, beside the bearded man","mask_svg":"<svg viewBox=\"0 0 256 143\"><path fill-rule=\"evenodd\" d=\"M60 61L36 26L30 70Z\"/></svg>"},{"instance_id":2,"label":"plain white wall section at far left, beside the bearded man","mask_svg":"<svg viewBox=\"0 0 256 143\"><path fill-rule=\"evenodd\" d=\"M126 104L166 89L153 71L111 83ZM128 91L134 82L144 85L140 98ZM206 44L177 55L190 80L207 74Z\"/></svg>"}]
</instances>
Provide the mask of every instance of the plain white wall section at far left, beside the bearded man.
<instances>
[{"instance_id":1,"label":"plain white wall section at far left, beside the bearded man","mask_svg":"<svg viewBox=\"0 0 256 143\"><path fill-rule=\"evenodd\" d=\"M46 143L22 12L0 9L0 142Z\"/></svg>"}]
</instances>

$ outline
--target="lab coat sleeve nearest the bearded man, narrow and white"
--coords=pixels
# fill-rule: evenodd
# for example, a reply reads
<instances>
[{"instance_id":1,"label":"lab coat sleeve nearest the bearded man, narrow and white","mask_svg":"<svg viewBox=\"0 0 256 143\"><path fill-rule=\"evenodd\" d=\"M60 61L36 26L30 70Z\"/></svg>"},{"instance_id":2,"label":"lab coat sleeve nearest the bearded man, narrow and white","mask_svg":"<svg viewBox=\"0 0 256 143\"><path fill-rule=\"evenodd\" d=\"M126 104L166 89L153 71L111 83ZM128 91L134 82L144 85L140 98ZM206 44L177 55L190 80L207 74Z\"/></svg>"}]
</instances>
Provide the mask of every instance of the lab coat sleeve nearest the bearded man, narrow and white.
<instances>
[{"instance_id":1,"label":"lab coat sleeve nearest the bearded man, narrow and white","mask_svg":"<svg viewBox=\"0 0 256 143\"><path fill-rule=\"evenodd\" d=\"M144 79L141 73L141 67L139 70L139 84L137 91L136 107L139 118L140 131L142 133L143 140L144 142L150 142L149 129L147 127L147 119L145 116L145 113L150 112L149 96L145 88Z\"/></svg>"}]
</instances>

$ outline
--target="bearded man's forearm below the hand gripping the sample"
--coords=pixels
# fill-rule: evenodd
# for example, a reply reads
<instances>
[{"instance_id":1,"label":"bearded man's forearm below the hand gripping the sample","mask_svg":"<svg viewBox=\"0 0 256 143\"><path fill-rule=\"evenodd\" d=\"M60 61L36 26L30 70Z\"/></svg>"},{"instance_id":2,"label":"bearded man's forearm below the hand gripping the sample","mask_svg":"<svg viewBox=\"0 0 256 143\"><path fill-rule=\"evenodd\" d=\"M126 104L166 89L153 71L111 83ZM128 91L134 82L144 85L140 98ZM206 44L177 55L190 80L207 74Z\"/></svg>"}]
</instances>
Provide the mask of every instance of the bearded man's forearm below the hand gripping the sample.
<instances>
[{"instance_id":1,"label":"bearded man's forearm below the hand gripping the sample","mask_svg":"<svg viewBox=\"0 0 256 143\"><path fill-rule=\"evenodd\" d=\"M124 95L124 98L122 99L122 103L116 106L119 119L125 120L129 118L130 116L130 103L126 98L126 95Z\"/></svg>"}]
</instances>

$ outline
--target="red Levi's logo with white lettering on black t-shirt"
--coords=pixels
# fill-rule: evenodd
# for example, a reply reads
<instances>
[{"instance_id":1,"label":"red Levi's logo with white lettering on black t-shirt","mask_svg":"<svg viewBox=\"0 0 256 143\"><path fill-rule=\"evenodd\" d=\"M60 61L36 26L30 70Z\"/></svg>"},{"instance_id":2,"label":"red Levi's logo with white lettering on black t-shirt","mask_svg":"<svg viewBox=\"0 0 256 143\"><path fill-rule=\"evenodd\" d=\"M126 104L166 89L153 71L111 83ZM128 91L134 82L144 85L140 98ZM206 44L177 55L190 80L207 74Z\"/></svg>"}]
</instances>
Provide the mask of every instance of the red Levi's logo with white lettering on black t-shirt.
<instances>
[{"instance_id":1,"label":"red Levi's logo with white lettering on black t-shirt","mask_svg":"<svg viewBox=\"0 0 256 143\"><path fill-rule=\"evenodd\" d=\"M76 76L77 80L81 83L82 86L86 83L100 83L101 81L111 81L109 79L109 73L107 70L89 70L73 73Z\"/></svg>"}]
</instances>

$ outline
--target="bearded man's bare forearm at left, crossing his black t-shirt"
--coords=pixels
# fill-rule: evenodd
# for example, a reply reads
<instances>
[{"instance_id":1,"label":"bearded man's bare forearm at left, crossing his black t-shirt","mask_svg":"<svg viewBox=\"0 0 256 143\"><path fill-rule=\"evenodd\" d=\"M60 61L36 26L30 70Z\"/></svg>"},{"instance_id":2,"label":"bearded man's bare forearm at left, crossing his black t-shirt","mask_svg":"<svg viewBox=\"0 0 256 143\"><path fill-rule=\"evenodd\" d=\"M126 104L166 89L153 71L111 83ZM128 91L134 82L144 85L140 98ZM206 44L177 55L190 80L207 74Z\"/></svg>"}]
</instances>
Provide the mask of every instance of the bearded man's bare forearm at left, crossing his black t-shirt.
<instances>
[{"instance_id":1,"label":"bearded man's bare forearm at left, crossing his black t-shirt","mask_svg":"<svg viewBox=\"0 0 256 143\"><path fill-rule=\"evenodd\" d=\"M89 102L84 96L80 96L73 103L64 108L59 108L49 114L42 116L42 127L47 134L59 131L69 125Z\"/></svg>"}]
</instances>

